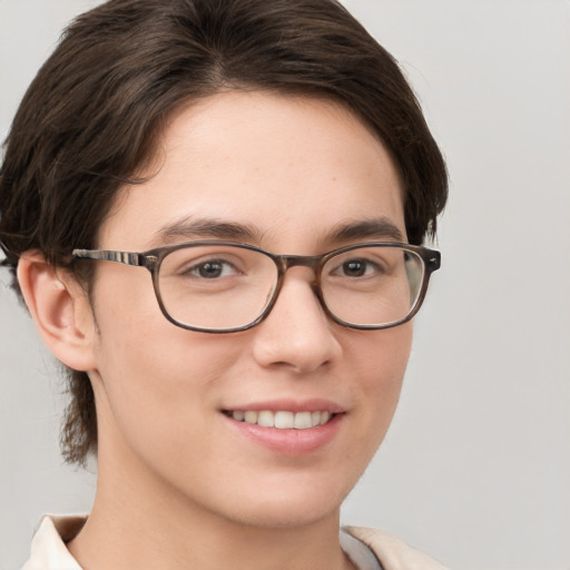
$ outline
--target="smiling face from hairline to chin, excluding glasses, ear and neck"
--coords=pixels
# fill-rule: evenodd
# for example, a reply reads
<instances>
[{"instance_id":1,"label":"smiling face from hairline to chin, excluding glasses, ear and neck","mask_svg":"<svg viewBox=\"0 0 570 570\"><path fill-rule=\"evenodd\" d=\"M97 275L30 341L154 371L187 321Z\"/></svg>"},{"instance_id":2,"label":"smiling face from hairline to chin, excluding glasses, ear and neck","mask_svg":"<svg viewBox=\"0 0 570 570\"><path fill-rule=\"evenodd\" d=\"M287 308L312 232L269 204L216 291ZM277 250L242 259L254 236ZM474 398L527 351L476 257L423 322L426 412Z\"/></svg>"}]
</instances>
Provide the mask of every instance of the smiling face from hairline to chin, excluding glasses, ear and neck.
<instances>
[{"instance_id":1,"label":"smiling face from hairline to chin, excluding glasses, ear and neck","mask_svg":"<svg viewBox=\"0 0 570 570\"><path fill-rule=\"evenodd\" d=\"M317 255L386 239L382 224L338 235L379 219L405 239L391 158L332 102L210 97L171 119L145 174L148 181L117 199L100 248L142 252L218 237ZM98 263L90 376L99 476L226 521L291 527L336 517L394 413L411 326L342 327L324 314L313 279L312 269L292 267L263 323L207 334L163 316L145 268ZM259 411L332 419L279 430L233 417Z\"/></svg>"}]
</instances>

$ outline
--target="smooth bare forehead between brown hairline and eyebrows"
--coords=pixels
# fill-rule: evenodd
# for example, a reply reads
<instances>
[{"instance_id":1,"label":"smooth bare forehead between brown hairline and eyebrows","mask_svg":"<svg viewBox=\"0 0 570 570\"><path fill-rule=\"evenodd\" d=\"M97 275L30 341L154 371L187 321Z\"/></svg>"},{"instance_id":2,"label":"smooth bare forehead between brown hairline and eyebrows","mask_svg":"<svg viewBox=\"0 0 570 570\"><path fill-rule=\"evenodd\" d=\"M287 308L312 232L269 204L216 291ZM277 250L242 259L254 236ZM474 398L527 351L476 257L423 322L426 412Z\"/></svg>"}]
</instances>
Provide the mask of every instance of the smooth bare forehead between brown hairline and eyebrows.
<instances>
[{"instance_id":1,"label":"smooth bare forehead between brown hairline and eyebrows","mask_svg":"<svg viewBox=\"0 0 570 570\"><path fill-rule=\"evenodd\" d=\"M170 118L142 176L145 184L119 193L100 247L156 247L183 240L173 227L204 228L210 220L247 227L247 240L267 247L315 243L334 226L380 218L405 235L389 153L330 100L244 91L209 97Z\"/></svg>"}]
</instances>

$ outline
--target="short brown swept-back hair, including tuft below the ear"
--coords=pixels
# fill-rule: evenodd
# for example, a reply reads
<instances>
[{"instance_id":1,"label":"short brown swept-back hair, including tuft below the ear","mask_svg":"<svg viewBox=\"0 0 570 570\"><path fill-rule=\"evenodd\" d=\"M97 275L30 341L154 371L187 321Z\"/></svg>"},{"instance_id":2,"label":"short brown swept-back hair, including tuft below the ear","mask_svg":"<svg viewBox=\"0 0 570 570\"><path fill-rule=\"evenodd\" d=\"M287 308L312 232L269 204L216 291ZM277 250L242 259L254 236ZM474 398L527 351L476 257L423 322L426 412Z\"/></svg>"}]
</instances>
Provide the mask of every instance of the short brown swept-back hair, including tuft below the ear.
<instances>
[{"instance_id":1,"label":"short brown swept-back hair, including tuft below the ear","mask_svg":"<svg viewBox=\"0 0 570 570\"><path fill-rule=\"evenodd\" d=\"M66 30L29 87L6 142L0 245L65 265L97 247L117 190L151 157L166 117L247 87L347 105L400 169L410 243L433 234L448 193L443 157L397 63L335 0L111 0ZM18 285L14 283L18 291ZM94 394L69 371L62 452L97 446Z\"/></svg>"}]
</instances>

